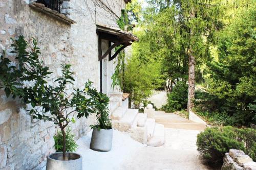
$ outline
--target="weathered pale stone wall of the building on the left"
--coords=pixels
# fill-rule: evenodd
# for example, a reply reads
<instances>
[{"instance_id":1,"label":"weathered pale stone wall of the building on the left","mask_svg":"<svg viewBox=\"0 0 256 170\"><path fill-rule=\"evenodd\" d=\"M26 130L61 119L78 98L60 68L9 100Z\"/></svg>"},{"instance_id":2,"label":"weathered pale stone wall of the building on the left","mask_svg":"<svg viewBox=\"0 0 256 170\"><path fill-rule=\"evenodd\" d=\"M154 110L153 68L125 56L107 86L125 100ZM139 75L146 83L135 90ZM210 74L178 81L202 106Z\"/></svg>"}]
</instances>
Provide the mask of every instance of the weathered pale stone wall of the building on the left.
<instances>
[{"instance_id":1,"label":"weathered pale stone wall of the building on the left","mask_svg":"<svg viewBox=\"0 0 256 170\"><path fill-rule=\"evenodd\" d=\"M38 40L41 58L53 71L48 83L61 75L62 62L70 63L75 84L82 88L89 79L99 89L98 37L96 24L117 27L116 20L125 7L123 0L70 0L62 4L62 13L76 23L67 25L49 15L35 11L29 0L0 0L0 53L10 53L10 37L24 35ZM1 55L1 54L0 54ZM14 62L15 63L15 62ZM113 63L110 63L113 64ZM77 138L89 131L95 116L81 118L71 127ZM20 104L6 98L0 90L0 169L42 169L46 156L54 152L51 122L32 119Z\"/></svg>"}]
</instances>

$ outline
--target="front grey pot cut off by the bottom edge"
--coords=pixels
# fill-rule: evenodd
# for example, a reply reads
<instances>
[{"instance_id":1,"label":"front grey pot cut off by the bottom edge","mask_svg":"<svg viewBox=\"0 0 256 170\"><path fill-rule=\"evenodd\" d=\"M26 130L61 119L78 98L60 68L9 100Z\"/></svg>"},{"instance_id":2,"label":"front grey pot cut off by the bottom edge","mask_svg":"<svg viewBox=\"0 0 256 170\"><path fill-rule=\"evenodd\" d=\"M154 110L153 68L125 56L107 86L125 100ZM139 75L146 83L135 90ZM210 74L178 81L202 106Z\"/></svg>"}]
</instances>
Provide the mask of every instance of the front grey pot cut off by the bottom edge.
<instances>
[{"instance_id":1,"label":"front grey pot cut off by the bottom edge","mask_svg":"<svg viewBox=\"0 0 256 170\"><path fill-rule=\"evenodd\" d=\"M62 152L55 152L47 157L46 170L82 170L82 156L76 153L66 153L62 160Z\"/></svg>"}]
</instances>

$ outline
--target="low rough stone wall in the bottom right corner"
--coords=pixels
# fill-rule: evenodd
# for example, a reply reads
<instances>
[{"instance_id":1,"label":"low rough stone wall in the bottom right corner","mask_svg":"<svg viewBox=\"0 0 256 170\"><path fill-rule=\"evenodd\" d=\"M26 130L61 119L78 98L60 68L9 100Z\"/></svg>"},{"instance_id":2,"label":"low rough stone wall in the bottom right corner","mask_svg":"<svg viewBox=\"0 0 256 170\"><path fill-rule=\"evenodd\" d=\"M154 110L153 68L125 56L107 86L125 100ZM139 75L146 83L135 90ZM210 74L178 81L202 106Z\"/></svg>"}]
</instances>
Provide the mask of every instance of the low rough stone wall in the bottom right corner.
<instances>
[{"instance_id":1,"label":"low rough stone wall in the bottom right corner","mask_svg":"<svg viewBox=\"0 0 256 170\"><path fill-rule=\"evenodd\" d=\"M256 162L241 150L229 150L223 162L221 170L256 170Z\"/></svg>"}]
</instances>

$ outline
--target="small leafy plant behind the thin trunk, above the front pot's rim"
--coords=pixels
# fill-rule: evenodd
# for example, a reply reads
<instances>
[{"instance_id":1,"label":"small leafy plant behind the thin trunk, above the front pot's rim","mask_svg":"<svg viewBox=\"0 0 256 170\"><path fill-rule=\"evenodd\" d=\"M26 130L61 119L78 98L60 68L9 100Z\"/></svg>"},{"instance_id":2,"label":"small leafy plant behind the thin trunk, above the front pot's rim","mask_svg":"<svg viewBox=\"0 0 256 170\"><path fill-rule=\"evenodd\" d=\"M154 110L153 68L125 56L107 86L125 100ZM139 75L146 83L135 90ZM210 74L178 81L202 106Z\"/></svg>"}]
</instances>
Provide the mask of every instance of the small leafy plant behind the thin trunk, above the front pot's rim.
<instances>
[{"instance_id":1,"label":"small leafy plant behind the thin trunk, above the front pot's rim","mask_svg":"<svg viewBox=\"0 0 256 170\"><path fill-rule=\"evenodd\" d=\"M53 139L56 152L63 152L63 136L61 131L58 131L57 134L53 136ZM68 127L66 130L66 151L75 152L77 148L78 145L75 142L75 135L72 134L71 128Z\"/></svg>"}]
</instances>

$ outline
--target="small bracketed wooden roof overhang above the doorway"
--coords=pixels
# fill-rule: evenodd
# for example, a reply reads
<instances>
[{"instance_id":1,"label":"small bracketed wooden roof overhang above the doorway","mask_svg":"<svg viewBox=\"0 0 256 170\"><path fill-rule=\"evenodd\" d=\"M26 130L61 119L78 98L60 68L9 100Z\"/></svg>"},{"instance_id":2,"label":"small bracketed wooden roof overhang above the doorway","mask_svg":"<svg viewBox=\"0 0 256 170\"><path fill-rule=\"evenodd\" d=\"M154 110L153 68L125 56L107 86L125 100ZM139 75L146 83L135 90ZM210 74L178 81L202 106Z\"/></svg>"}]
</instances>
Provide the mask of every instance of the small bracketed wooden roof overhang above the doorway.
<instances>
[{"instance_id":1,"label":"small bracketed wooden roof overhang above the doorway","mask_svg":"<svg viewBox=\"0 0 256 170\"><path fill-rule=\"evenodd\" d=\"M122 31L121 29L118 28L113 28L109 26L102 26L102 25L96 25L96 33L99 36L99 60L102 60L105 58L108 54L111 53L111 50L118 46L122 45L116 53L109 58L109 60L113 60L118 53L123 50L126 46L129 46L132 44L134 41L138 41L139 38L134 36L131 32L127 31ZM102 55L101 51L101 40L105 39L110 42L113 42L109 49L105 52L105 54Z\"/></svg>"}]
</instances>

